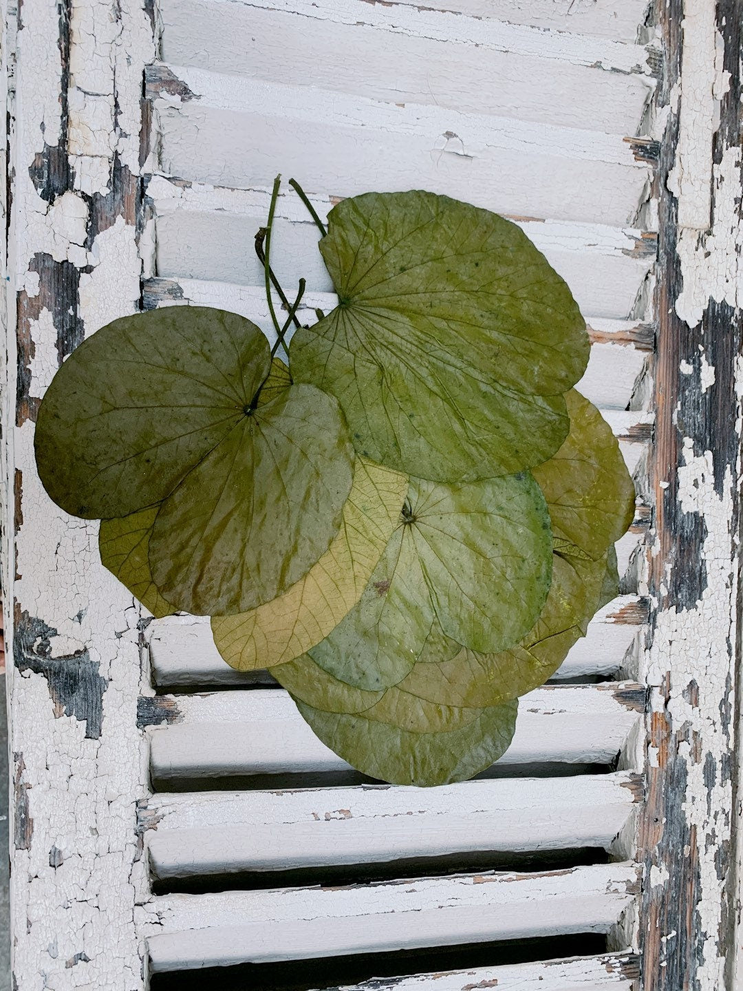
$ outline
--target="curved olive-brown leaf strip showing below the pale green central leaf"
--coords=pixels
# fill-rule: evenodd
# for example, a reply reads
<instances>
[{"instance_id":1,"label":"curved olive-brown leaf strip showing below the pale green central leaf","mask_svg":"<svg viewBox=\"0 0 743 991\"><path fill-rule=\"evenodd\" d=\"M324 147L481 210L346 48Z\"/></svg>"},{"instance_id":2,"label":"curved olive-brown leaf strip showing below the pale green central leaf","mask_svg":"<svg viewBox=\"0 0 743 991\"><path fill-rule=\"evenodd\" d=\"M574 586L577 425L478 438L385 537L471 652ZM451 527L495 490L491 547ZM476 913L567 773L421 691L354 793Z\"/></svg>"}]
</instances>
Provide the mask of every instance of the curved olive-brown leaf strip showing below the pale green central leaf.
<instances>
[{"instance_id":1,"label":"curved olive-brown leaf strip showing below the pale green central leaf","mask_svg":"<svg viewBox=\"0 0 743 991\"><path fill-rule=\"evenodd\" d=\"M525 695L557 671L585 635L606 575L606 561L554 556L552 586L539 619L519 644L499 653L462 648L450 660L417 663L401 692L449 706L498 706Z\"/></svg>"}]
</instances>

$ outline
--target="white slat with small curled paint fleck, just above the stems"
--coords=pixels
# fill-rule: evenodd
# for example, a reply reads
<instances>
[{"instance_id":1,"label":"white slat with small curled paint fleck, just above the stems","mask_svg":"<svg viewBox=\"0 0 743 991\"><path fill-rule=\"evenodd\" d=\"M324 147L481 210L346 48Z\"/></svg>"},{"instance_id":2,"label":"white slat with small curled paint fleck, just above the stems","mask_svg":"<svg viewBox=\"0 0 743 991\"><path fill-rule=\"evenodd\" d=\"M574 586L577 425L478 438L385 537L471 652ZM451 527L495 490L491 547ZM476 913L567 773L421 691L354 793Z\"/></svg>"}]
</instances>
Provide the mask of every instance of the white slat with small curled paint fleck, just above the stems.
<instances>
[{"instance_id":1,"label":"white slat with small curled paint fleck, just above the stems","mask_svg":"<svg viewBox=\"0 0 743 991\"><path fill-rule=\"evenodd\" d=\"M151 72L160 167L222 186L309 192L426 188L499 213L631 226L649 167L619 135L397 106L184 66Z\"/></svg>"}]
</instances>

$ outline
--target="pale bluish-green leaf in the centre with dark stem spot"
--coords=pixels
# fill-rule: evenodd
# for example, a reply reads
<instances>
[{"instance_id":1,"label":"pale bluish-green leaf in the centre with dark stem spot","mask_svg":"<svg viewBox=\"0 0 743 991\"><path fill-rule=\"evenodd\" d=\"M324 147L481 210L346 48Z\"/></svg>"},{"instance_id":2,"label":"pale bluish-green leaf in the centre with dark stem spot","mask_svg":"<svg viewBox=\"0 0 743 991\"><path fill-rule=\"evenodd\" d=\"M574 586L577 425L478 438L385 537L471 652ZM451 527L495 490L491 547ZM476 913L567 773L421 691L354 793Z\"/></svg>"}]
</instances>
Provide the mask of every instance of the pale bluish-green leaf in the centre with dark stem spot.
<instances>
[{"instance_id":1,"label":"pale bluish-green leaf in the centre with dark stem spot","mask_svg":"<svg viewBox=\"0 0 743 991\"><path fill-rule=\"evenodd\" d=\"M437 630L478 650L518 642L551 577L549 514L528 473L456 486L411 480L359 605L310 655L341 681L378 691L434 649Z\"/></svg>"}]
</instances>

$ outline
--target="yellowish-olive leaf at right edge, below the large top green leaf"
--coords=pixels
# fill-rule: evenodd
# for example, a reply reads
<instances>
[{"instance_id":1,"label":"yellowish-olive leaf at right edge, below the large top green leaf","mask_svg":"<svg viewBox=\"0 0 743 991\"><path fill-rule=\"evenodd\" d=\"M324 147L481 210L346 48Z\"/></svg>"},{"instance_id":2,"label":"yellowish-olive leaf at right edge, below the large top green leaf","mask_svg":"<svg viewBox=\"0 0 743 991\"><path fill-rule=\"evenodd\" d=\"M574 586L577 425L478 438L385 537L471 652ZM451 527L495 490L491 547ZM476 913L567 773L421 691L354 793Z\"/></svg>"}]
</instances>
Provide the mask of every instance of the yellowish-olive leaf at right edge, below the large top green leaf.
<instances>
[{"instance_id":1,"label":"yellowish-olive leaf at right edge, below the large top green leaf","mask_svg":"<svg viewBox=\"0 0 743 991\"><path fill-rule=\"evenodd\" d=\"M555 537L596 561L632 522L635 488L611 427L595 406L575 389L566 398L570 433L532 474L550 507Z\"/></svg>"}]
</instances>

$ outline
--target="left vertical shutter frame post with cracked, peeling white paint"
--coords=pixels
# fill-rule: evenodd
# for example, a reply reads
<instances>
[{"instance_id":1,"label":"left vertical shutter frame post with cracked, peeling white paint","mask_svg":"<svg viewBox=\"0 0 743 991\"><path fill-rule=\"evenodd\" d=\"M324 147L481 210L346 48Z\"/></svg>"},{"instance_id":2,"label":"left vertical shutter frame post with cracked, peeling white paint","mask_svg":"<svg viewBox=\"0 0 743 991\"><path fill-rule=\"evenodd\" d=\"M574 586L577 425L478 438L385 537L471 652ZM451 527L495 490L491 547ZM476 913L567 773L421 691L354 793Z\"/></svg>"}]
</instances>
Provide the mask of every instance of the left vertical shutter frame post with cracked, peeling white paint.
<instances>
[{"instance_id":1,"label":"left vertical shutter frame post with cracked, peeling white paint","mask_svg":"<svg viewBox=\"0 0 743 991\"><path fill-rule=\"evenodd\" d=\"M145 889L133 825L147 780L139 616L99 563L97 527L42 490L33 443L56 368L140 305L140 94L153 24L140 0L3 6L16 85L2 388L13 986L135 991Z\"/></svg>"}]
</instances>

